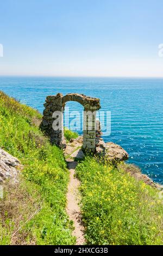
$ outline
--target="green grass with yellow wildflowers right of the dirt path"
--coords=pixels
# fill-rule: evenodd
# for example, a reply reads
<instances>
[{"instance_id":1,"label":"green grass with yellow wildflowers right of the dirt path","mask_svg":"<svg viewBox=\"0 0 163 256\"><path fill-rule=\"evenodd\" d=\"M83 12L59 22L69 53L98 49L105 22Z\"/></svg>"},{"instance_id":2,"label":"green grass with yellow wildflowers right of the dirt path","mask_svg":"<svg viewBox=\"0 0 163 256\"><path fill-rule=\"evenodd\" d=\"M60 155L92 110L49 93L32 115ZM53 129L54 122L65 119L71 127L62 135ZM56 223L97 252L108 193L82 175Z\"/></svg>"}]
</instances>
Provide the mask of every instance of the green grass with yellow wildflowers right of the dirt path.
<instances>
[{"instance_id":1,"label":"green grass with yellow wildflowers right of the dirt path","mask_svg":"<svg viewBox=\"0 0 163 256\"><path fill-rule=\"evenodd\" d=\"M159 192L100 160L76 168L89 245L162 245L163 201Z\"/></svg>"}]
</instances>

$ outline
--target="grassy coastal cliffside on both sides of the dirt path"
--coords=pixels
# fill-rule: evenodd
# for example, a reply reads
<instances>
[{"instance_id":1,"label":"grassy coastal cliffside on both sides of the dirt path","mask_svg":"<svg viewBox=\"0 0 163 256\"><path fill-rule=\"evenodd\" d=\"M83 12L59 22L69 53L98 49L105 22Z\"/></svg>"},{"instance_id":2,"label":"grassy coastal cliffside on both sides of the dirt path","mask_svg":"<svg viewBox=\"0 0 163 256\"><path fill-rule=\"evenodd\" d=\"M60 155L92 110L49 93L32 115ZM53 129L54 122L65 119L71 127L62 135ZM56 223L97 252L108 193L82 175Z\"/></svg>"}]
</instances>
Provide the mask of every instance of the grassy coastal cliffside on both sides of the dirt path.
<instances>
[{"instance_id":1,"label":"grassy coastal cliffside on both sides of the dirt path","mask_svg":"<svg viewBox=\"0 0 163 256\"><path fill-rule=\"evenodd\" d=\"M75 244L73 224L66 214L66 156L39 130L41 114L2 92L0 99L0 243ZM67 136L65 131L68 147L78 139L81 142L81 138L73 136L76 137L71 132ZM113 146L109 144L110 149ZM114 147L120 149L118 145ZM77 150L79 153L80 145ZM161 245L163 204L153 182L146 177L145 183L139 169L123 161L116 166L87 154L81 160L78 153L73 150L67 156L78 161L75 173L80 180L86 243ZM5 177L5 171L10 175ZM8 179L12 173L19 177L14 184ZM153 187L147 185L150 182Z\"/></svg>"}]
</instances>

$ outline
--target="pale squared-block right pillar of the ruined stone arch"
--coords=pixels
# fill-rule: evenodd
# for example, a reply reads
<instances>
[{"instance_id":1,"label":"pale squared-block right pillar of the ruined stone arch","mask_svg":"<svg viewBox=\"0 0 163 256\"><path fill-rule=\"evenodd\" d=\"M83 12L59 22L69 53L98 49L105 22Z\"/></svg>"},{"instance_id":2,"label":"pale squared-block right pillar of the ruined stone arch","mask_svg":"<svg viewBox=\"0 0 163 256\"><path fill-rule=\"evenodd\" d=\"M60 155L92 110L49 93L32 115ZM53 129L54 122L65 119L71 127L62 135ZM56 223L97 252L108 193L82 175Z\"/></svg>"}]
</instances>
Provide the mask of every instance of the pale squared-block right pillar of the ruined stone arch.
<instances>
[{"instance_id":1,"label":"pale squared-block right pillar of the ruined stone arch","mask_svg":"<svg viewBox=\"0 0 163 256\"><path fill-rule=\"evenodd\" d=\"M83 149L95 152L96 143L96 111L84 111Z\"/></svg>"}]
</instances>

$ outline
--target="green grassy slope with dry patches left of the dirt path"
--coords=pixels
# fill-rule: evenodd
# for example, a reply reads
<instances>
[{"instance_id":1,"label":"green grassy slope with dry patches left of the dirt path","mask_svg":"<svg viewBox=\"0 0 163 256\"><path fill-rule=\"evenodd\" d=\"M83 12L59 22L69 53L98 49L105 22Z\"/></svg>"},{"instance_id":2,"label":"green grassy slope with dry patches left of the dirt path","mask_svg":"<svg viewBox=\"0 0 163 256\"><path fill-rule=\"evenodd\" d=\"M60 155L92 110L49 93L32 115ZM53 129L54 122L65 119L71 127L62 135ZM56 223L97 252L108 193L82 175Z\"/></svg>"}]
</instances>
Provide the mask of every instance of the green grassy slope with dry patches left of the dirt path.
<instances>
[{"instance_id":1,"label":"green grassy slope with dry patches left of the dirt path","mask_svg":"<svg viewBox=\"0 0 163 256\"><path fill-rule=\"evenodd\" d=\"M41 114L0 92L1 148L24 168L0 199L0 244L72 245L65 205L69 179L62 151L39 131Z\"/></svg>"}]
</instances>

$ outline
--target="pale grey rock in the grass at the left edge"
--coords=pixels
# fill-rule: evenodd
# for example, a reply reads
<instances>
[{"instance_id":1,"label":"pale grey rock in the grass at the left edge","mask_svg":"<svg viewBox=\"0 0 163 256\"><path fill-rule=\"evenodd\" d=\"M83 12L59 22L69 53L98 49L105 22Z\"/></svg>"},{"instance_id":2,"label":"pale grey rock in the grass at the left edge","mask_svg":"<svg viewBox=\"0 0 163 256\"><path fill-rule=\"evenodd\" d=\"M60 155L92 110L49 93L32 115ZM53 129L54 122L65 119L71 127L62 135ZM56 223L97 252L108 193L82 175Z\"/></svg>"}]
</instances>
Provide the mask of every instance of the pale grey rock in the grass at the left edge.
<instances>
[{"instance_id":1,"label":"pale grey rock in the grass at the left edge","mask_svg":"<svg viewBox=\"0 0 163 256\"><path fill-rule=\"evenodd\" d=\"M20 166L18 159L0 148L0 182L8 178L16 181L18 174L17 166Z\"/></svg>"}]
</instances>

